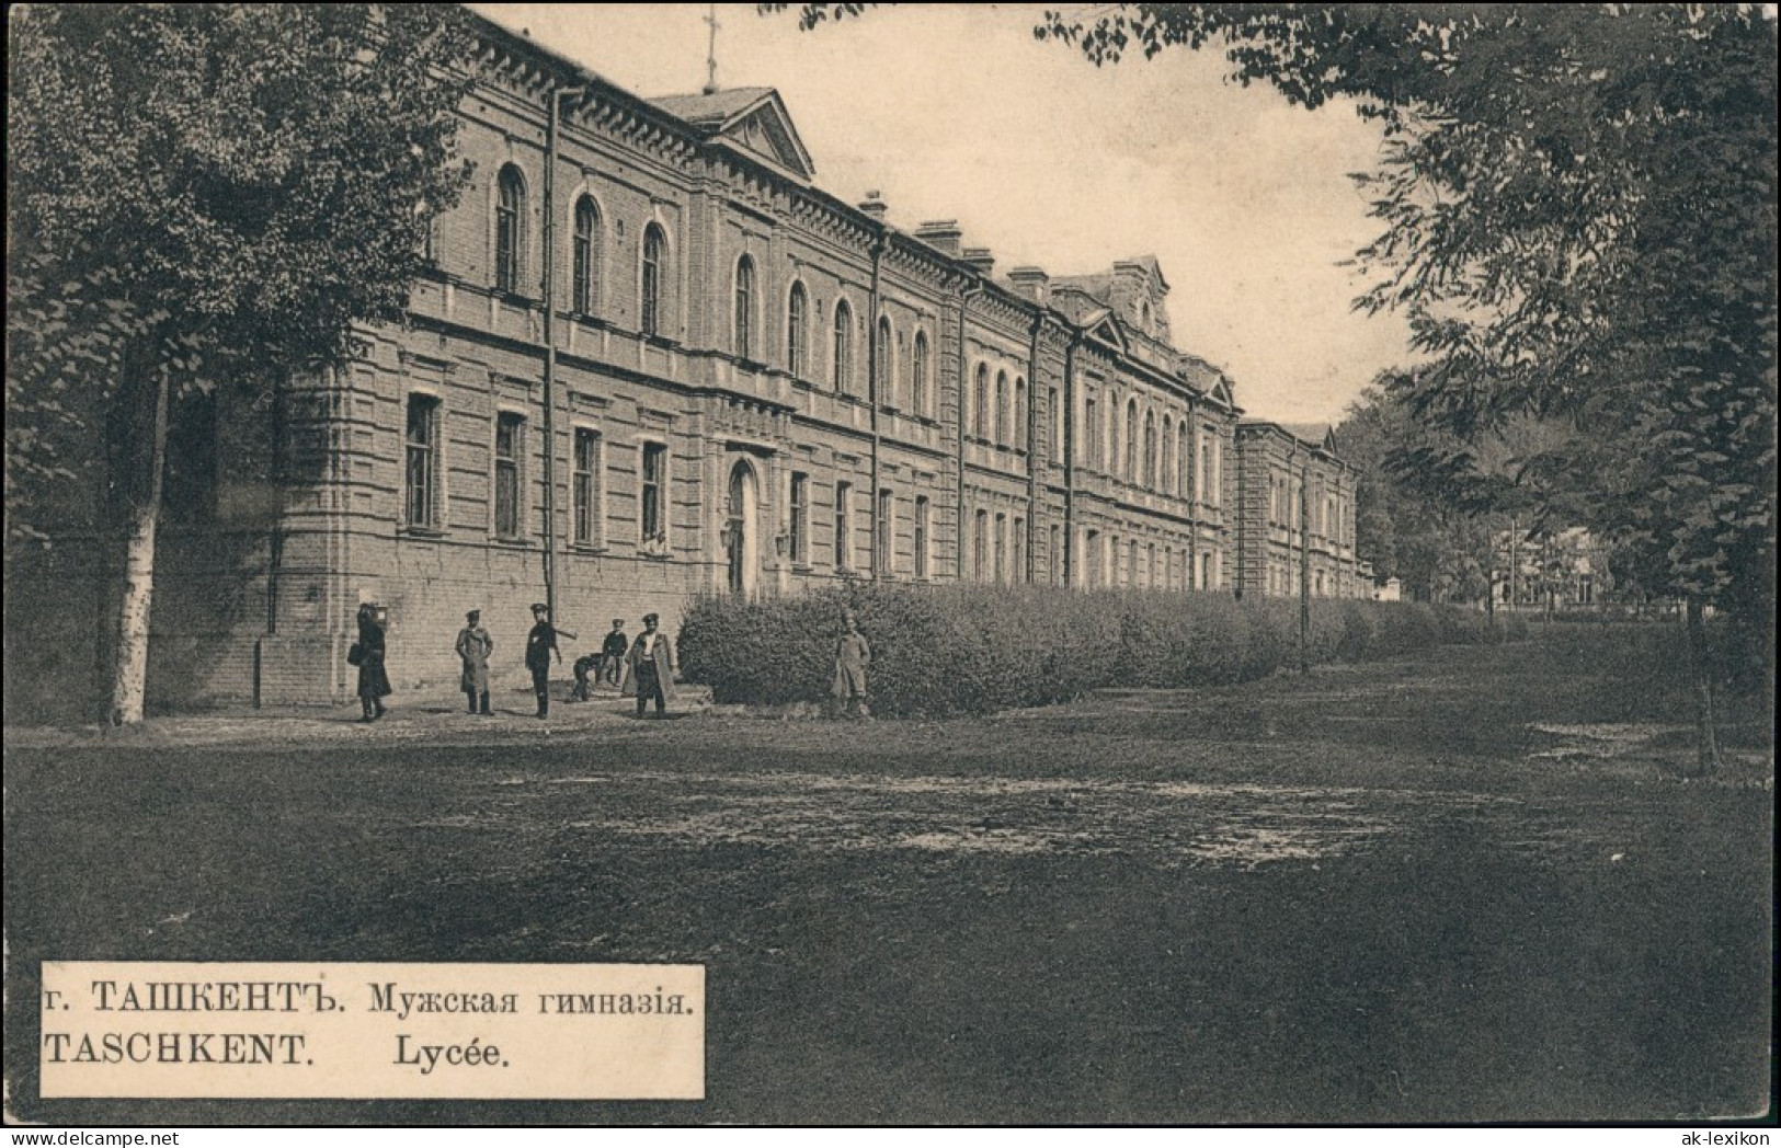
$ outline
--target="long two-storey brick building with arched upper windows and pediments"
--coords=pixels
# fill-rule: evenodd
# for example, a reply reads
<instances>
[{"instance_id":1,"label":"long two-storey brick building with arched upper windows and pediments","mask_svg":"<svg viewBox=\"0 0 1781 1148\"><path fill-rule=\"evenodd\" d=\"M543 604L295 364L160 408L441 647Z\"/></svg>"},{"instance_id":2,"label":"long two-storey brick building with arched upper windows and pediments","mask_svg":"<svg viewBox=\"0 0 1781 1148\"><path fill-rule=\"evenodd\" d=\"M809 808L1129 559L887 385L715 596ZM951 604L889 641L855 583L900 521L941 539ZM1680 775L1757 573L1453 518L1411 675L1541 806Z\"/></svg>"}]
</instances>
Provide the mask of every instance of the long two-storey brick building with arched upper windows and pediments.
<instances>
[{"instance_id":1,"label":"long two-storey brick building with arched upper windows and pediments","mask_svg":"<svg viewBox=\"0 0 1781 1148\"><path fill-rule=\"evenodd\" d=\"M367 600L401 689L456 675L470 607L516 671L547 598L591 648L611 618L842 577L1291 593L1297 527L1240 491L1261 470L1311 468L1314 589L1357 593L1343 466L1240 425L1172 345L1156 260L997 274L951 222L817 189L771 89L641 100L479 34L476 176L410 322L271 420L176 425L175 479L178 434L217 450L166 529L164 701L344 699Z\"/></svg>"}]
</instances>

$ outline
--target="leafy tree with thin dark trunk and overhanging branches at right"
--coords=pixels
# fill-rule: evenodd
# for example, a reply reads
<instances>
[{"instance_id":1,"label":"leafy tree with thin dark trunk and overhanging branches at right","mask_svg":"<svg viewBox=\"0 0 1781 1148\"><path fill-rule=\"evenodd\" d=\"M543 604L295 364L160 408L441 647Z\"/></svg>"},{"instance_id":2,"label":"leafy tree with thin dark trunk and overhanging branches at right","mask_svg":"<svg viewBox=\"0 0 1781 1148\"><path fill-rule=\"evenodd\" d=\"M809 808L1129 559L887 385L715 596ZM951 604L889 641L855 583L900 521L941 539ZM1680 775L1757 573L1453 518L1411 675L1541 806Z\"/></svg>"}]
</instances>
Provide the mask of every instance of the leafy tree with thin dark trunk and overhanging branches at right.
<instances>
[{"instance_id":1,"label":"leafy tree with thin dark trunk and overhanging branches at right","mask_svg":"<svg viewBox=\"0 0 1781 1148\"><path fill-rule=\"evenodd\" d=\"M780 5L768 5L780 7ZM857 14L803 5L801 23ZM1386 142L1357 176L1384 233L1357 306L1428 365L1402 395L1471 441L1567 431L1589 520L1687 598L1699 764L1703 616L1774 630L1776 23L1763 5L1167 4L1049 12L1095 64L1218 46L1241 84L1352 101ZM1450 475L1457 477L1457 475ZM1772 666L1772 639L1769 641Z\"/></svg>"}]
</instances>

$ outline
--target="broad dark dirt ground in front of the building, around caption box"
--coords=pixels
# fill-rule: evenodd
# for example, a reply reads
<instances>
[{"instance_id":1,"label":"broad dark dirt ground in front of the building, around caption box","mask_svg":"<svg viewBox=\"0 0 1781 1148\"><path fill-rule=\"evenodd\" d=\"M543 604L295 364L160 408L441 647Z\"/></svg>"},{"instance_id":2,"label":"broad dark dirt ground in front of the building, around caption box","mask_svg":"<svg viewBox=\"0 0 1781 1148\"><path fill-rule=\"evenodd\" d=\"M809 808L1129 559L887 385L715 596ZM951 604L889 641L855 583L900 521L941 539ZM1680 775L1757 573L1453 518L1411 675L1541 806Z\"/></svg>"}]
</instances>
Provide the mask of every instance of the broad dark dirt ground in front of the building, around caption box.
<instances>
[{"instance_id":1,"label":"broad dark dirt ground in front of the building, around caption box","mask_svg":"<svg viewBox=\"0 0 1781 1148\"><path fill-rule=\"evenodd\" d=\"M55 1123L1530 1121L1769 1105L1772 753L1555 628L987 721L9 730ZM43 959L696 961L696 1104L41 1102Z\"/></svg>"}]
</instances>

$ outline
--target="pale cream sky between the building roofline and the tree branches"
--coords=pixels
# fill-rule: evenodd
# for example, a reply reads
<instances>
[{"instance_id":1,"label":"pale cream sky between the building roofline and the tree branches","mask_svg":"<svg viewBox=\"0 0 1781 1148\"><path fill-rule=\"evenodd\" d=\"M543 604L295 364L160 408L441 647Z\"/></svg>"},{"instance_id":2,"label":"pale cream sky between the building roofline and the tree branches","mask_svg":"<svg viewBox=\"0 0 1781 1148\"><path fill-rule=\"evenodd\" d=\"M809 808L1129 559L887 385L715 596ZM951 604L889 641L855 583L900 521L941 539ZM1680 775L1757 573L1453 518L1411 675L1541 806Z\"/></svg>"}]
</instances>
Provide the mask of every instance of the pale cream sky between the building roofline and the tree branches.
<instances>
[{"instance_id":1,"label":"pale cream sky between the building roofline and the tree branches","mask_svg":"<svg viewBox=\"0 0 1781 1148\"><path fill-rule=\"evenodd\" d=\"M470 7L639 96L705 84L703 4ZM1175 345L1222 367L1252 418L1339 420L1409 361L1405 324L1354 313L1364 279L1341 265L1380 230L1348 178L1375 166L1375 126L1227 82L1215 52L1097 69L1035 41L1042 12L885 5L800 32L794 9L720 4L718 84L777 87L821 189L876 190L903 230L956 219L997 274L1154 255Z\"/></svg>"}]
</instances>

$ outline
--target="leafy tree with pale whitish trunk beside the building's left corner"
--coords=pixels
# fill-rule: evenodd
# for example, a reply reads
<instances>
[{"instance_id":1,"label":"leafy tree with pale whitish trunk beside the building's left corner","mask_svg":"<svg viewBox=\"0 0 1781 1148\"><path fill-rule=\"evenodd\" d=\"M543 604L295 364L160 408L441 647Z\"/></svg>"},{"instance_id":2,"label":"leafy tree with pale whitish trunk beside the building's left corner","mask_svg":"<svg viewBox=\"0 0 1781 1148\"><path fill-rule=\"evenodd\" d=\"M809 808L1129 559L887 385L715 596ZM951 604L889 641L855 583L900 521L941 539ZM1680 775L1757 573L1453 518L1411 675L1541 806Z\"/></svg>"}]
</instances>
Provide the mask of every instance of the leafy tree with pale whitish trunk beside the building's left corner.
<instances>
[{"instance_id":1,"label":"leafy tree with pale whitish trunk beside the building's left corner","mask_svg":"<svg viewBox=\"0 0 1781 1148\"><path fill-rule=\"evenodd\" d=\"M57 431L119 450L110 721L142 717L167 409L344 365L399 320L456 158L467 23L443 7L12 9L7 545L69 477ZM53 491L52 491L53 493Z\"/></svg>"}]
</instances>

